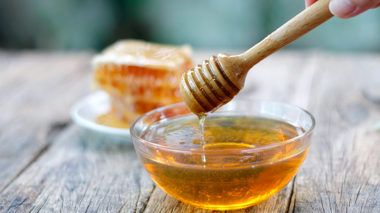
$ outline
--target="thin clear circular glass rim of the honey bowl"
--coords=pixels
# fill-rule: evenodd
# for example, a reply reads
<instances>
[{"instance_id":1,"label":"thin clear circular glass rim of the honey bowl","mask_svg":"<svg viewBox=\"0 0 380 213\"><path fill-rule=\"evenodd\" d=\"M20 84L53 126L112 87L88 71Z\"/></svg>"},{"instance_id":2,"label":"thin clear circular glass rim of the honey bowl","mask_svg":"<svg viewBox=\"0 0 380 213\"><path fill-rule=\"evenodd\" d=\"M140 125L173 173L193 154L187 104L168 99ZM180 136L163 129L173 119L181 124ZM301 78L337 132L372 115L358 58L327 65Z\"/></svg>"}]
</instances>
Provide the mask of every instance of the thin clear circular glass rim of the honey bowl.
<instances>
[{"instance_id":1,"label":"thin clear circular glass rim of the honey bowl","mask_svg":"<svg viewBox=\"0 0 380 213\"><path fill-rule=\"evenodd\" d=\"M293 107L293 108L296 108L298 110L301 110L303 111L304 113L306 113L310 119L311 119L311 126L305 131L303 132L302 134L294 137L294 138L291 138L289 140L286 140L286 141L283 141L283 142L277 142L277 143L274 143L274 144L269 144L269 145L264 145L264 146L259 146L259 147L252 147L252 148L237 148L237 149L231 149L231 150L228 150L228 153L247 153L247 152L252 152L252 151L260 151L260 150L268 150L268 149L272 149L272 148L275 148L276 146L281 146L281 145L284 145L285 143L291 143L291 142L294 142L296 140L301 140L302 138L306 137L307 135L310 135L310 133L313 131L314 127L315 127L315 118L314 116L308 112L307 110L299 107L299 106L295 106L295 105L291 105L291 104L287 104L287 103L283 103L283 102L279 102L279 101L270 101L270 100L255 100L255 99L247 99L247 98L235 98L233 99L232 101L230 101L231 103L232 102L247 102L247 101L250 101L250 102L255 102L255 103L271 103L271 104L275 104L275 105L282 105L282 106L286 106L286 107ZM230 103L228 102L228 103ZM228 104L227 103L227 104ZM226 105L227 105L226 104ZM153 142L149 142L149 141L146 141L144 139L142 139L140 136L137 135L135 129L134 129L134 126L138 123L138 121L140 121L142 118L144 117L147 117L149 115L152 115L153 113L156 113L156 112L159 112L159 111L163 111L167 108L171 108L171 107L177 107L177 106L186 106L186 104L184 102L180 102L180 103L176 103L176 104L171 104L171 105L167 105L167 106L161 106L159 108L156 108L156 109L153 109L152 111L149 111L143 115L141 115L140 117L138 117L135 121L133 121L133 123L131 124L131 127L130 127L130 132L131 132L131 138L132 138L132 141L133 143L135 143L135 140L137 140L139 143L144 143L144 144L147 144L147 145L150 145L150 146L154 146L154 147L157 147L159 149L164 149L164 150L173 150L173 151L176 151L176 152L184 152L184 153L196 153L196 154L215 154L217 155L218 153L226 153L226 150L216 150L216 149L212 149L212 150L203 150L203 149L183 149L183 148L176 148L176 147L169 147L169 146L165 146L165 145L160 145L160 144L157 144L157 143L153 143ZM223 107L223 106L222 106ZM215 112L213 113L217 113L218 110L216 110ZM211 114L213 114L211 113ZM190 114L193 114L192 112L190 112L189 110L189 115ZM188 115L188 114L186 114ZM196 116L195 114L193 114L194 116ZM308 147L308 146L307 146ZM304 147L307 148L307 147ZM136 146L135 146L136 148ZM303 151L304 149L300 150Z\"/></svg>"}]
</instances>

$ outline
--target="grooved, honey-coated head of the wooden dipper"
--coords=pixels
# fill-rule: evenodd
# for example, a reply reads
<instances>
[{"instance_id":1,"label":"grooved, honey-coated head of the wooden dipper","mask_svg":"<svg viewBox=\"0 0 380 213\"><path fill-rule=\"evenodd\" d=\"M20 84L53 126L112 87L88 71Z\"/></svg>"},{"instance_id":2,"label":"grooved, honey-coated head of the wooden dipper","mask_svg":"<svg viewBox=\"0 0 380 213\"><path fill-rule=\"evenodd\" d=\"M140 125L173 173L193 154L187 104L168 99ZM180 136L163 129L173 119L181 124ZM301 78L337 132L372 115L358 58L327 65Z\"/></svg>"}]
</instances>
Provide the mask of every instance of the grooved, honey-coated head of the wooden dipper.
<instances>
[{"instance_id":1,"label":"grooved, honey-coated head of the wooden dipper","mask_svg":"<svg viewBox=\"0 0 380 213\"><path fill-rule=\"evenodd\" d=\"M228 103L241 89L232 82L234 79L218 58L211 56L182 75L179 85L182 99L198 116L208 115Z\"/></svg>"}]
</instances>

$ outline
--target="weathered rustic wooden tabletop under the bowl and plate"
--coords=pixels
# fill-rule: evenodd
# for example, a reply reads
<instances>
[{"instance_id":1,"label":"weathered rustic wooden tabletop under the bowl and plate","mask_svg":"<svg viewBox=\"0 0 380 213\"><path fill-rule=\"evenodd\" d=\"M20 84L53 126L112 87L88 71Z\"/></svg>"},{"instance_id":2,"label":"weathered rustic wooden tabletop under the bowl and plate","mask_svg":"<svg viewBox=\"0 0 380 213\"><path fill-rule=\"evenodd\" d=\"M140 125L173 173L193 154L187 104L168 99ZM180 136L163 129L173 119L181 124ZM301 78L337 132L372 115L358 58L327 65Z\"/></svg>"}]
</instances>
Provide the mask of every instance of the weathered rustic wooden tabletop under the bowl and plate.
<instances>
[{"instance_id":1,"label":"weathered rustic wooden tabletop under the bowl and plate","mask_svg":"<svg viewBox=\"0 0 380 213\"><path fill-rule=\"evenodd\" d=\"M226 212L166 195L133 145L95 140L73 124L71 106L93 92L92 56L0 51L0 212ZM380 212L379 80L379 53L280 51L256 65L238 96L301 106L316 128L282 191L227 212Z\"/></svg>"}]
</instances>

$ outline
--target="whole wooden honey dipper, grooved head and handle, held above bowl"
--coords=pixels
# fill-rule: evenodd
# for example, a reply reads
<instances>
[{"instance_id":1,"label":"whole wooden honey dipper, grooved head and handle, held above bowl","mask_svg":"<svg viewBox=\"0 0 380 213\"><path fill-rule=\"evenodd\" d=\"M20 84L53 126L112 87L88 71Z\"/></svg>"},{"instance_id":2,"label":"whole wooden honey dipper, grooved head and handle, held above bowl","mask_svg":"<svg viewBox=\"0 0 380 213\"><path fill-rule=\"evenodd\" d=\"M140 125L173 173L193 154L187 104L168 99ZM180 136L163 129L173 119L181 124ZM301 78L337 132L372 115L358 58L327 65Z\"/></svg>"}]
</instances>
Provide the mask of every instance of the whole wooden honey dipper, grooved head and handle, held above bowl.
<instances>
[{"instance_id":1,"label":"whole wooden honey dipper, grooved head and handle, held above bowl","mask_svg":"<svg viewBox=\"0 0 380 213\"><path fill-rule=\"evenodd\" d=\"M245 53L218 53L184 73L180 92L190 111L207 115L231 101L255 64L333 17L329 1L318 0Z\"/></svg>"}]
</instances>

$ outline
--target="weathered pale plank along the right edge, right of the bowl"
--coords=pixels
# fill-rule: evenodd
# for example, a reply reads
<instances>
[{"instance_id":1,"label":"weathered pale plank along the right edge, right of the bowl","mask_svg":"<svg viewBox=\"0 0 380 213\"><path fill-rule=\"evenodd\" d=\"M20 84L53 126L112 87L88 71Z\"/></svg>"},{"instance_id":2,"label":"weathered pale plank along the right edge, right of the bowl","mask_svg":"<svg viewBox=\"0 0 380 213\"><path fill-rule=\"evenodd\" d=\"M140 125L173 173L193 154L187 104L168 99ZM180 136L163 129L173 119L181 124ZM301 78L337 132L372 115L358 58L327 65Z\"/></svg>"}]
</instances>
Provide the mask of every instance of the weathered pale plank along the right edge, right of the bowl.
<instances>
[{"instance_id":1,"label":"weathered pale plank along the right edge, right of the bowl","mask_svg":"<svg viewBox=\"0 0 380 213\"><path fill-rule=\"evenodd\" d=\"M296 178L294 212L365 212L380 209L380 55L319 55L308 108L317 126ZM372 73L373 76L363 75ZM380 100L380 96L377 97Z\"/></svg>"}]
</instances>

